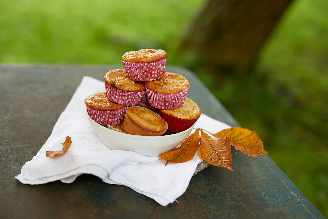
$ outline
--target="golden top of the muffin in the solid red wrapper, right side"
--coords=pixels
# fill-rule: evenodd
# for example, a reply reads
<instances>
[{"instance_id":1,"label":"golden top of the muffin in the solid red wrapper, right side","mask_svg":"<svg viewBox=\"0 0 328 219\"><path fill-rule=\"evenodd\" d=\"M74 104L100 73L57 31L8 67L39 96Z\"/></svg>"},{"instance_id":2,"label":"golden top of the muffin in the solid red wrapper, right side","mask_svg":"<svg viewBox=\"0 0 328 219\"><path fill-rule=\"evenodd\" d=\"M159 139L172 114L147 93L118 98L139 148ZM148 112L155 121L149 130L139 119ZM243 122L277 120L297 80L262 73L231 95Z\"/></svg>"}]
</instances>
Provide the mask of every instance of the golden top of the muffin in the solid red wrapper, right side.
<instances>
[{"instance_id":1,"label":"golden top of the muffin in the solid red wrapper, right side","mask_svg":"<svg viewBox=\"0 0 328 219\"><path fill-rule=\"evenodd\" d=\"M189 98L186 98L184 104L178 109L158 109L168 115L181 119L197 119L200 116L198 105Z\"/></svg>"}]
</instances>

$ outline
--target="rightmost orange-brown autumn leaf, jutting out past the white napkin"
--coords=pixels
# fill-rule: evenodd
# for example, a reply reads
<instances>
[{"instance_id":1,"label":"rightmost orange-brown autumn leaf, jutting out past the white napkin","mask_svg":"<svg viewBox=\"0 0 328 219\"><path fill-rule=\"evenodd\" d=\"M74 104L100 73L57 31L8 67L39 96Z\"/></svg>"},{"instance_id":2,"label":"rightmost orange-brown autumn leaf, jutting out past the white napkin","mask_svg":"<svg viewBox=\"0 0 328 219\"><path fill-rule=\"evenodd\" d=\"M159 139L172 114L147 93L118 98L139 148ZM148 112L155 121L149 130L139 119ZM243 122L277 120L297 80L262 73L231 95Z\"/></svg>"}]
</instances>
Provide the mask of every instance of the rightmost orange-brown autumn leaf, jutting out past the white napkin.
<instances>
[{"instance_id":1,"label":"rightmost orange-brown autumn leaf, jutting out past the white napkin","mask_svg":"<svg viewBox=\"0 0 328 219\"><path fill-rule=\"evenodd\" d=\"M260 139L255 131L243 129L240 127L233 127L222 130L216 134L215 137L230 136L231 144L235 149L240 150L248 156L256 158L257 156L265 155L268 152L263 148L263 141Z\"/></svg>"}]
</instances>

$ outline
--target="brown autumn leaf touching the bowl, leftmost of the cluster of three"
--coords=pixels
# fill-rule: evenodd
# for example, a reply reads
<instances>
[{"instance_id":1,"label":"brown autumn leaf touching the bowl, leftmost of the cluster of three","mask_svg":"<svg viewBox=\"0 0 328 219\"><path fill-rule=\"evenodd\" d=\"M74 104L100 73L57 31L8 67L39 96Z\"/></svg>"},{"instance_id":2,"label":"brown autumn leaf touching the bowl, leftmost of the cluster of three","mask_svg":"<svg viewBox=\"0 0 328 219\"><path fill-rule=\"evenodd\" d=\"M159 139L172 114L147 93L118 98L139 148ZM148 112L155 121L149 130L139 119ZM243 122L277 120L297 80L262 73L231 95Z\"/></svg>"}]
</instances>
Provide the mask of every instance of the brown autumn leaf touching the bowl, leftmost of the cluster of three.
<instances>
[{"instance_id":1,"label":"brown autumn leaf touching the bowl, leftmost of the cluster of three","mask_svg":"<svg viewBox=\"0 0 328 219\"><path fill-rule=\"evenodd\" d=\"M199 129L197 129L192 135L187 137L180 147L171 151L160 154L159 157L171 163L184 163L191 160L199 147ZM166 165L165 164L165 165Z\"/></svg>"}]
</instances>

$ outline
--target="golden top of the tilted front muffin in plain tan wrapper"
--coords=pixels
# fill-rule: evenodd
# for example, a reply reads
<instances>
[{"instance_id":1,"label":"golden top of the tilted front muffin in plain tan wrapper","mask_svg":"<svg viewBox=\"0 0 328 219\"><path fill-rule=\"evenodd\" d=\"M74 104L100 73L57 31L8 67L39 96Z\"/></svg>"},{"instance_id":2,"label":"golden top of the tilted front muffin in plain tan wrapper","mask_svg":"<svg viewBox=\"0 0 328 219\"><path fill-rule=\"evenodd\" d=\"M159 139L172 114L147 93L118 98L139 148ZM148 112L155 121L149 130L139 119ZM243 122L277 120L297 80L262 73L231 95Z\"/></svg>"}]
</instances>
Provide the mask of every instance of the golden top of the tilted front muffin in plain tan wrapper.
<instances>
[{"instance_id":1,"label":"golden top of the tilted front muffin in plain tan wrapper","mask_svg":"<svg viewBox=\"0 0 328 219\"><path fill-rule=\"evenodd\" d=\"M143 107L129 107L126 115L134 125L148 132L160 133L167 129L165 119L159 117L155 112Z\"/></svg>"}]
</instances>

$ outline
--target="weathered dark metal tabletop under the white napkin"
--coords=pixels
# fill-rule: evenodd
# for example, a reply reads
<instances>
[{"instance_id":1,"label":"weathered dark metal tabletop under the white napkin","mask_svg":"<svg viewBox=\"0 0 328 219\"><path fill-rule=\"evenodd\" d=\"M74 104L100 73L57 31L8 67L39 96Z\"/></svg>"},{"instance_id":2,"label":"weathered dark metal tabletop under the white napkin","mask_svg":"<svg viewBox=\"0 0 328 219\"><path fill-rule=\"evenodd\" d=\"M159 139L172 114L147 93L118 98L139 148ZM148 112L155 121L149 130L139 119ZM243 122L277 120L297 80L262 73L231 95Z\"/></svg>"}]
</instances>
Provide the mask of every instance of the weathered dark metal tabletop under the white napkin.
<instances>
[{"instance_id":1,"label":"weathered dark metal tabletop under the white napkin","mask_svg":"<svg viewBox=\"0 0 328 219\"><path fill-rule=\"evenodd\" d=\"M87 174L71 184L25 185L14 179L47 140L82 77L103 80L119 67L0 65L0 217L323 218L269 156L251 158L235 149L234 171L205 168L191 179L179 203L167 207ZM189 80L188 97L203 113L239 126L192 72L174 66L166 71Z\"/></svg>"}]
</instances>

